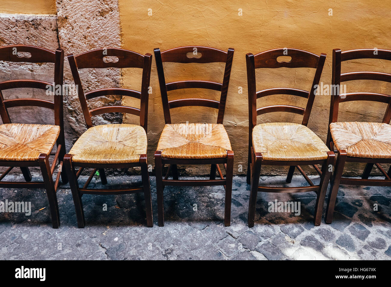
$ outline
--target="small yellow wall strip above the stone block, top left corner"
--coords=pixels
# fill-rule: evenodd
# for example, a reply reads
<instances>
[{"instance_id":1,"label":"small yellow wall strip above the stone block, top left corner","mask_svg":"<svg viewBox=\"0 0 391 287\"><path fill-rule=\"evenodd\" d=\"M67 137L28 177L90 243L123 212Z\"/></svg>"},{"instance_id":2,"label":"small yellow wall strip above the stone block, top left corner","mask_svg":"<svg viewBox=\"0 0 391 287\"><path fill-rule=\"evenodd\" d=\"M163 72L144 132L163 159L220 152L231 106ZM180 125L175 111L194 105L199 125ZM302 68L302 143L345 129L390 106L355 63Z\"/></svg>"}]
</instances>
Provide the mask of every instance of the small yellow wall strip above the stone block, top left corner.
<instances>
[{"instance_id":1,"label":"small yellow wall strip above the stone block, top left corner","mask_svg":"<svg viewBox=\"0 0 391 287\"><path fill-rule=\"evenodd\" d=\"M1 0L0 13L56 14L56 0Z\"/></svg>"}]
</instances>

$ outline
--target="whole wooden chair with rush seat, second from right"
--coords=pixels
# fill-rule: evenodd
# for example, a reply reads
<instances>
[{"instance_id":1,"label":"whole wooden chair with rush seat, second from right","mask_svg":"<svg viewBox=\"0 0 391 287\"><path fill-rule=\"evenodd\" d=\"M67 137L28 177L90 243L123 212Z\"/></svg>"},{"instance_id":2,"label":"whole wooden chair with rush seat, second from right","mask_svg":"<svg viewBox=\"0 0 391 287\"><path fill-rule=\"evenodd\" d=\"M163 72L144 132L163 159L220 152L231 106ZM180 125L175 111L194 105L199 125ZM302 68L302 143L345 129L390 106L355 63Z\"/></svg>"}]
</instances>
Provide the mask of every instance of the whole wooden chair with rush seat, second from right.
<instances>
[{"instance_id":1,"label":"whole wooden chair with rush seat, second from right","mask_svg":"<svg viewBox=\"0 0 391 287\"><path fill-rule=\"evenodd\" d=\"M277 57L290 56L290 62L278 62ZM317 194L314 224L320 225L323 202L331 172L329 166L334 164L334 153L307 128L308 119L314 103L317 84L323 70L326 54L317 56L296 49L275 49L253 55L246 55L248 103L249 103L249 154L247 182L251 184L248 208L248 226L253 227L255 221L256 196L258 191L272 193L297 193L314 191ZM256 92L255 69L258 68L316 68L310 91L292 88L265 89ZM292 105L271 105L256 109L256 100L264 96L290 94L307 98L305 109ZM256 117L268 112L293 112L303 115L301 125L296 123L263 123L256 125ZM321 175L319 185L314 185L305 174L301 165L312 165ZM322 164L322 170L317 167ZM295 168L307 180L305 187L262 187L258 186L262 165L290 166L286 182L290 183Z\"/></svg>"}]
</instances>

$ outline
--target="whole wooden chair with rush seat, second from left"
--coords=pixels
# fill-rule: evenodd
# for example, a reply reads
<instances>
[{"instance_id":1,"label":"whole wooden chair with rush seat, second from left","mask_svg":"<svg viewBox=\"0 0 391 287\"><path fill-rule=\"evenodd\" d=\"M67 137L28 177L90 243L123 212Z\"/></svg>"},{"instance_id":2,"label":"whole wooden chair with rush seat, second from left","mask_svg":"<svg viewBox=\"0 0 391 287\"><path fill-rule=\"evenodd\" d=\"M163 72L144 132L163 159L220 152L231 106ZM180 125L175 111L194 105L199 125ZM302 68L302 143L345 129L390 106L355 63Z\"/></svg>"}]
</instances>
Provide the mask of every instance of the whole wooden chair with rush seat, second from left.
<instances>
[{"instance_id":1,"label":"whole wooden chair with rush seat, second from left","mask_svg":"<svg viewBox=\"0 0 391 287\"><path fill-rule=\"evenodd\" d=\"M105 62L104 57L118 57L117 62ZM68 173L70 187L75 203L77 225L83 228L85 225L83 194L129 194L144 193L147 213L147 226L152 227L152 201L147 168L147 116L148 116L148 87L151 77L152 55L122 50L122 49L97 49L74 56L68 55L69 64L76 86L78 87L79 100L83 109L87 131L79 137L69 154L64 157L66 171ZM111 88L97 89L84 93L78 70L85 68L140 68L142 73L141 91L131 89ZM131 96L141 100L140 109L127 106L104 106L89 109L87 100L106 95ZM125 112L140 116L140 125L108 124L93 126L91 117L109 112ZM107 184L105 168L124 168L140 166L142 187L122 189L89 189L95 172L99 170L103 185ZM75 171L75 167L79 167ZM84 168L93 168L93 171L84 184L79 187L77 179Z\"/></svg>"}]
</instances>

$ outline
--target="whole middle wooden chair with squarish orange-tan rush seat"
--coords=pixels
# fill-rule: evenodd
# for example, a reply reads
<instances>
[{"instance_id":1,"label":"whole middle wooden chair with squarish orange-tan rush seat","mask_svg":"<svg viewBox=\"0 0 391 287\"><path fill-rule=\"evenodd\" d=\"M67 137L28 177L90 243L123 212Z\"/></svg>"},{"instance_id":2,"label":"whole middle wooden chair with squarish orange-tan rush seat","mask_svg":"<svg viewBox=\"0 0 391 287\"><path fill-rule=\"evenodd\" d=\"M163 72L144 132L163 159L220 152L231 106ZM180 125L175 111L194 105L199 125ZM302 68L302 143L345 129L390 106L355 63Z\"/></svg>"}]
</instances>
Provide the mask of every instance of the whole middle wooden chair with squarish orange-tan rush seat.
<instances>
[{"instance_id":1,"label":"whole middle wooden chair with squarish orange-tan rush seat","mask_svg":"<svg viewBox=\"0 0 391 287\"><path fill-rule=\"evenodd\" d=\"M197 55L201 57L188 57L197 48ZM160 52L154 49L156 67L158 70L161 101L166 125L161 133L157 150L155 152L156 190L158 196L159 226L164 226L163 189L167 185L173 186L208 186L223 185L225 188L224 224L230 226L231 218L231 192L233 176L233 152L231 150L228 134L222 125L224 109L230 81L233 48L228 52L214 48L187 46ZM181 81L165 82L163 62L177 63L211 63L224 62L224 78L221 83L208 81ZM176 89L202 88L221 92L220 101L206 99L180 99L169 101L167 91ZM218 109L217 124L212 123L179 123L172 124L170 109L185 106L204 106ZM162 179L162 169L169 164L167 173ZM177 164L211 164L209 180L179 180ZM219 164L226 169L224 179ZM220 179L215 179L216 169ZM169 173L172 171L172 180Z\"/></svg>"}]
</instances>

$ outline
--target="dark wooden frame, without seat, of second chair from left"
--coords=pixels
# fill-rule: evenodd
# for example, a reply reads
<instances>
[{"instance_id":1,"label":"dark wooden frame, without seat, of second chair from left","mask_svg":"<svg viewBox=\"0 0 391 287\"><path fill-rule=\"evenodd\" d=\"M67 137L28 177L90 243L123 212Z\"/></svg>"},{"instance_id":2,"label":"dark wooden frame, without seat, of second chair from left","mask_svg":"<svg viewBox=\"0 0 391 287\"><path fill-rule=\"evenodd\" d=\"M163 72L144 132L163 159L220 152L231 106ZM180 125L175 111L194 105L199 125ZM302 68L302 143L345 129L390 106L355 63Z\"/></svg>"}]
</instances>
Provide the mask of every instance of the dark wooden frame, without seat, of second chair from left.
<instances>
[{"instance_id":1,"label":"dark wooden frame, without seat, of second chair from left","mask_svg":"<svg viewBox=\"0 0 391 287\"><path fill-rule=\"evenodd\" d=\"M104 62L103 58L105 56L115 56L118 57L118 62ZM78 86L79 100L84 114L84 119L86 120L87 128L93 126L92 116L97 116L99 114L104 114L108 112L126 112L140 116L140 126L144 128L147 132L147 116L148 116L148 87L151 77L151 64L152 64L152 55L147 53L141 55L139 53L123 50L118 48L108 48L108 49L97 49L88 52L84 52L80 55L74 56L73 54L68 55L69 64L72 70L72 75L74 77L75 84ZM133 91L130 89L123 88L112 88L112 89L99 89L84 93L83 86L81 84L81 79L79 76L79 69L84 68L141 68L143 70L142 74L142 88L141 91ZM105 106L95 109L88 109L87 100L95 98L98 96L105 95L122 95L122 96L132 96L141 100L140 109L127 106ZM138 162L128 162L128 163L86 163L86 162L74 162L72 160L72 154L66 154L64 157L64 164L66 172L68 173L69 183L72 191L72 196L75 204L76 217L77 217L77 226L79 228L84 228L86 222L84 217L83 194L99 194L99 195L109 195L109 194L133 194L133 193L143 193L145 200L145 209L146 209L146 219L147 226L153 226L153 217L152 217L152 199L151 199L151 187L149 182L149 173L147 166L147 155L140 155L140 160ZM88 185L95 175L96 171L99 171L99 176L102 185L107 184L107 178L104 169L129 169L134 167L141 168L141 177L142 177L142 186L140 187L129 187L122 189L90 189ZM76 170L76 168L78 168ZM86 168L93 168L90 176L87 181L81 188L79 186L78 178Z\"/></svg>"}]
</instances>

